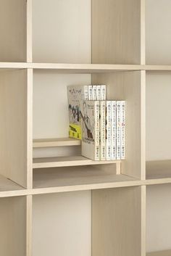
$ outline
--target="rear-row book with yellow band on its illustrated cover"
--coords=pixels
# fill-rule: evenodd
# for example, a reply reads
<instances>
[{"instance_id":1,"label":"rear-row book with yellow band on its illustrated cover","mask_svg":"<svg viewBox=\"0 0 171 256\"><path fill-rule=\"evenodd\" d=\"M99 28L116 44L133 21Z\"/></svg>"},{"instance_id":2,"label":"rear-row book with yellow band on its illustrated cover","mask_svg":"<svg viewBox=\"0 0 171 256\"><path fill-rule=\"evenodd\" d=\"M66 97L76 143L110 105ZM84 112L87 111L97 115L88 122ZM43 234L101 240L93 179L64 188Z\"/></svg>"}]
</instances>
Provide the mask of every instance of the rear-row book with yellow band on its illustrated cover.
<instances>
[{"instance_id":1,"label":"rear-row book with yellow band on its illustrated cover","mask_svg":"<svg viewBox=\"0 0 171 256\"><path fill-rule=\"evenodd\" d=\"M88 86L67 86L69 136L81 139L80 102L88 99Z\"/></svg>"}]
</instances>

